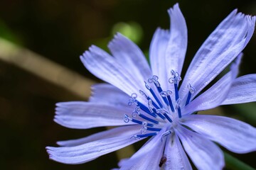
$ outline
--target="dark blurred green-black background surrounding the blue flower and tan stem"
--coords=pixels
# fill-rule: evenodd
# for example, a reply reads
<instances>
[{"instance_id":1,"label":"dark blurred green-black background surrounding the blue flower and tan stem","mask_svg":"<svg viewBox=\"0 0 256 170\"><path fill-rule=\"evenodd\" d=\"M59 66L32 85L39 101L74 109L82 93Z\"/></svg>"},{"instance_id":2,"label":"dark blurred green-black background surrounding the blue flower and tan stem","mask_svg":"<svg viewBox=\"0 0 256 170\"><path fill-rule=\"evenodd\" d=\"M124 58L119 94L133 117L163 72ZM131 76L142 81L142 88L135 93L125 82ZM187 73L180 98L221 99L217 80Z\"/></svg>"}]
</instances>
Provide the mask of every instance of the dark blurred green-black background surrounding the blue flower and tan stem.
<instances>
[{"instance_id":1,"label":"dark blurred green-black background surrounding the blue flower and tan stem","mask_svg":"<svg viewBox=\"0 0 256 170\"><path fill-rule=\"evenodd\" d=\"M154 30L159 26L169 28L166 10L176 2L188 26L185 69L203 40L234 8L256 15L255 0L1 0L0 37L84 77L100 81L82 66L79 59L82 52L91 44L106 49L114 32L119 31L147 53ZM256 36L244 50L240 75L255 73L255 45ZM56 102L86 98L2 60L0 81L1 169L111 169L117 166L115 153L81 165L65 165L48 159L46 146L55 146L58 140L85 137L104 130L72 130L53 122ZM255 103L222 109L225 115L256 126ZM255 152L233 155L256 168Z\"/></svg>"}]
</instances>

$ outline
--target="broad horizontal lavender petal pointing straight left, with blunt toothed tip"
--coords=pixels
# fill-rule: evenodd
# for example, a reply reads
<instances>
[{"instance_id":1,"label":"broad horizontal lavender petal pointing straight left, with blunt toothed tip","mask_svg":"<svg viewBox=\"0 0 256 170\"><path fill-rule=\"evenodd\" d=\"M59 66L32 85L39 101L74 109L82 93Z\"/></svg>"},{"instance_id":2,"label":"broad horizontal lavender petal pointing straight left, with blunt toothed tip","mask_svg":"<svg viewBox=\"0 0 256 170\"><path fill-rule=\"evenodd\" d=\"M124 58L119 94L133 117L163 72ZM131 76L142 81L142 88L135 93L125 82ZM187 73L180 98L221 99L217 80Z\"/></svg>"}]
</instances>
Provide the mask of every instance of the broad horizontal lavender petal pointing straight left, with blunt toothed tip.
<instances>
[{"instance_id":1,"label":"broad horizontal lavender petal pointing straight left, with blunt toothed tip","mask_svg":"<svg viewBox=\"0 0 256 170\"><path fill-rule=\"evenodd\" d=\"M114 106L84 101L70 101L56 104L54 121L67 128L88 129L102 126L131 125L124 123L124 114L130 112Z\"/></svg>"}]
</instances>

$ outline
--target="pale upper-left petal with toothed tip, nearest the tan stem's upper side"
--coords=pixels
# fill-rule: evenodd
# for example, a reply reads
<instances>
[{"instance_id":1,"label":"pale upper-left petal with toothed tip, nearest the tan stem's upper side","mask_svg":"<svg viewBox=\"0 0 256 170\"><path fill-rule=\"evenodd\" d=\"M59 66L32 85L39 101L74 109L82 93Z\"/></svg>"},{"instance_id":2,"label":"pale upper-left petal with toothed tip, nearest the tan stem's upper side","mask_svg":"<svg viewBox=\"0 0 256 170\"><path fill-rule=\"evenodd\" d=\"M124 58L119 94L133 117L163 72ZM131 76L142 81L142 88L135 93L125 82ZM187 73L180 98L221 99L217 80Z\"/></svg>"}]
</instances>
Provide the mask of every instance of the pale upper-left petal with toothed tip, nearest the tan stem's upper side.
<instances>
[{"instance_id":1,"label":"pale upper-left petal with toothed tip, nearest the tan stem's upper side","mask_svg":"<svg viewBox=\"0 0 256 170\"><path fill-rule=\"evenodd\" d=\"M114 57L94 45L89 50L80 59L96 77L116 86L128 95L138 93L139 89L146 89L144 80L137 79L136 75L127 72L127 69L123 67L124 63L119 63ZM138 99L147 103L142 96L138 96Z\"/></svg>"}]
</instances>

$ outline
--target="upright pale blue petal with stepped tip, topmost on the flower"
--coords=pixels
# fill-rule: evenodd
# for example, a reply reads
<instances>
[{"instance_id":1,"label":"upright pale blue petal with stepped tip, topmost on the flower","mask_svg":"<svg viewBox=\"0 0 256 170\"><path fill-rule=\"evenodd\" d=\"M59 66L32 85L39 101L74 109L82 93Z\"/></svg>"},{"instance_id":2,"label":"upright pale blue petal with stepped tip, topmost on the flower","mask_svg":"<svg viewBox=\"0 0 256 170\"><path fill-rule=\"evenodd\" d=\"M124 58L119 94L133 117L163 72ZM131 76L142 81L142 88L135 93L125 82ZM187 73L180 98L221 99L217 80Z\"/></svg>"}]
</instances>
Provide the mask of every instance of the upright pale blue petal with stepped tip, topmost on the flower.
<instances>
[{"instance_id":1,"label":"upright pale blue petal with stepped tip, topmost on the flower","mask_svg":"<svg viewBox=\"0 0 256 170\"><path fill-rule=\"evenodd\" d=\"M159 76L165 90L171 69L181 74L188 41L186 21L178 4L170 8L168 13L171 19L170 31L158 28L149 50L152 72Z\"/></svg>"}]
</instances>

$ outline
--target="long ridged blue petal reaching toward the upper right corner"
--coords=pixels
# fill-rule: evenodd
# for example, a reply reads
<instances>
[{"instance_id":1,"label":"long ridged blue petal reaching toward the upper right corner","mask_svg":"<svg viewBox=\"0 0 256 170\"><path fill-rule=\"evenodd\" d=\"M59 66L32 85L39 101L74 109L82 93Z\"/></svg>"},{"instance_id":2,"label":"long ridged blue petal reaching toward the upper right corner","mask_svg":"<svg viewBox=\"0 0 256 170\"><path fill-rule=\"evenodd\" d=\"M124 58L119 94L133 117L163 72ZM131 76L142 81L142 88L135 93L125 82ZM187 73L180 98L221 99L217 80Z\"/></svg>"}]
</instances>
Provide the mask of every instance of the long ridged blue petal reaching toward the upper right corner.
<instances>
[{"instance_id":1,"label":"long ridged blue petal reaching toward the upper right corner","mask_svg":"<svg viewBox=\"0 0 256 170\"><path fill-rule=\"evenodd\" d=\"M255 29L255 16L245 16L234 10L210 34L188 67L180 88L180 96L186 96L186 86L191 84L195 97L210 81L227 67L244 49ZM208 68L208 69L206 69Z\"/></svg>"}]
</instances>

